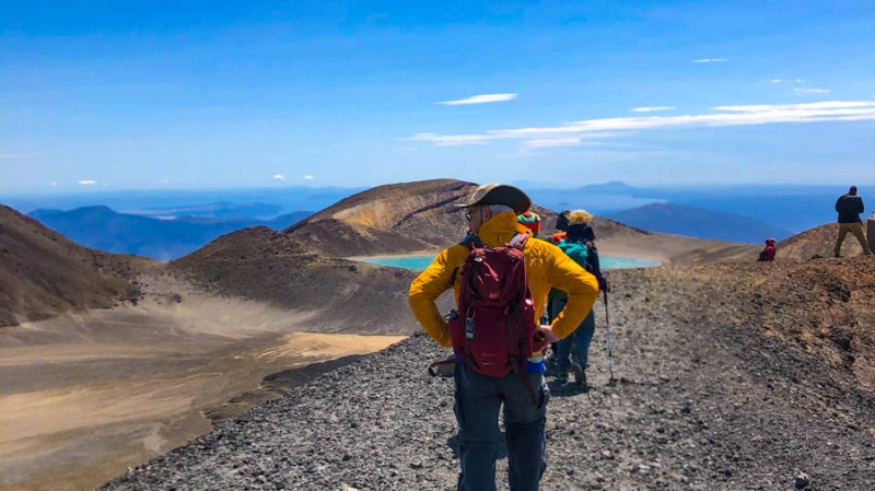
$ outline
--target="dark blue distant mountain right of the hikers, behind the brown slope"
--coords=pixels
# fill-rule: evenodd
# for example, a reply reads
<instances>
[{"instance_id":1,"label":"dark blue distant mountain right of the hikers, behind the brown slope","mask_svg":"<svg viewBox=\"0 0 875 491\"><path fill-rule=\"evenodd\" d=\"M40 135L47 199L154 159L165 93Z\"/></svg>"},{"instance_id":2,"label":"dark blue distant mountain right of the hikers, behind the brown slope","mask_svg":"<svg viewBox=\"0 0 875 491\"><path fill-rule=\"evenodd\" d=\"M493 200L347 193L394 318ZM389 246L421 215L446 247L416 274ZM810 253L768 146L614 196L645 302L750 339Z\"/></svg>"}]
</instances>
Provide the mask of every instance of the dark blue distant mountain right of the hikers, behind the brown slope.
<instances>
[{"instance_id":1,"label":"dark blue distant mountain right of the hikers, behind the brown slope","mask_svg":"<svg viewBox=\"0 0 875 491\"><path fill-rule=\"evenodd\" d=\"M645 204L605 217L652 232L714 241L759 244L769 237L782 241L793 235L788 230L749 217L673 203Z\"/></svg>"}]
</instances>

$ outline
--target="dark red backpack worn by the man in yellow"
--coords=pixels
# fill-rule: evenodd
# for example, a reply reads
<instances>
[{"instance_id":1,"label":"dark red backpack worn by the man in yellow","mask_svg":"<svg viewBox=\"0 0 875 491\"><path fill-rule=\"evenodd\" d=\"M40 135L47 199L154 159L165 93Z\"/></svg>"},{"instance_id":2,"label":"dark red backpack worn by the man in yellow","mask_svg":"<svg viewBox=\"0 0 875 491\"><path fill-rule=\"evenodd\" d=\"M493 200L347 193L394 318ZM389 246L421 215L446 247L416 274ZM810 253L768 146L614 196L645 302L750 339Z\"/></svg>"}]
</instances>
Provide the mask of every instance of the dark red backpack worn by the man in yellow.
<instances>
[{"instance_id":1,"label":"dark red backpack worn by the man in yellow","mask_svg":"<svg viewBox=\"0 0 875 491\"><path fill-rule=\"evenodd\" d=\"M523 255L527 239L520 234L510 244L487 247L478 237L467 238L468 258L450 280L453 284L462 274L456 311L447 315L453 351L483 375L514 372L528 382L526 359L545 348L542 336L536 340L540 332Z\"/></svg>"}]
</instances>

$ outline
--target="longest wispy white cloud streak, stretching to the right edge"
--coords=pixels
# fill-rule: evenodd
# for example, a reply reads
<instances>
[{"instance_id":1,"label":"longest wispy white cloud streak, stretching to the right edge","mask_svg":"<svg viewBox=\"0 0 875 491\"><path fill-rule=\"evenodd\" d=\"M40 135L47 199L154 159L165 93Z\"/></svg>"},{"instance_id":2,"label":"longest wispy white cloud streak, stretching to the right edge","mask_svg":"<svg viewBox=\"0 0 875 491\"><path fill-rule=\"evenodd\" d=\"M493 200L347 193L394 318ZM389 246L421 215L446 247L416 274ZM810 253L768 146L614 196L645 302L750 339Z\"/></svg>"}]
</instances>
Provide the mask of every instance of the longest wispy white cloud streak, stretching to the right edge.
<instances>
[{"instance_id":1,"label":"longest wispy white cloud streak, stretching to the right edge","mask_svg":"<svg viewBox=\"0 0 875 491\"><path fill-rule=\"evenodd\" d=\"M610 138L627 131L771 125L781 122L875 120L875 101L828 101L807 104L728 105L714 113L678 116L637 116L586 119L555 127L488 130L475 135L418 133L416 141L435 145L486 144L492 140L522 140L528 147L559 147L573 140ZM534 143L532 143L534 142Z\"/></svg>"}]
</instances>

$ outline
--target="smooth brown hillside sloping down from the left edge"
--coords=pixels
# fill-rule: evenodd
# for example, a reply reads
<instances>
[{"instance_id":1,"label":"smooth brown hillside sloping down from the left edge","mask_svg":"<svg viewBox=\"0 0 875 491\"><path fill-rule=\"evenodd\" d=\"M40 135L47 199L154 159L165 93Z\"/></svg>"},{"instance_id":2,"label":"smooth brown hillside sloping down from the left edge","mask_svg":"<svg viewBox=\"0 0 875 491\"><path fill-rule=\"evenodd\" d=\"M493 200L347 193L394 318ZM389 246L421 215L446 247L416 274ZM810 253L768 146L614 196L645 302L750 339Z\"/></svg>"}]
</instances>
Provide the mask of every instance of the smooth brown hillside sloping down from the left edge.
<instances>
[{"instance_id":1,"label":"smooth brown hillside sloping down from the left edge","mask_svg":"<svg viewBox=\"0 0 875 491\"><path fill-rule=\"evenodd\" d=\"M0 327L69 309L110 307L135 294L132 278L151 265L80 246L0 206Z\"/></svg>"}]
</instances>

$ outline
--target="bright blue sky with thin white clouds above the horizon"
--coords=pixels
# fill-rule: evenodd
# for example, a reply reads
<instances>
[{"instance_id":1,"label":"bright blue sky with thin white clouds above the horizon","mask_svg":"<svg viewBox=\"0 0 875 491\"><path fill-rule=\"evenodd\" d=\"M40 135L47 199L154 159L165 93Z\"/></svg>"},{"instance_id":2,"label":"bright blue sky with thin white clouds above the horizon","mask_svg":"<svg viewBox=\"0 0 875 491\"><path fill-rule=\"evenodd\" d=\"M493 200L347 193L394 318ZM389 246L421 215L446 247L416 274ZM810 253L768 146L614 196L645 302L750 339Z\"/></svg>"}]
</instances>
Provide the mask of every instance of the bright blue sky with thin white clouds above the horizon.
<instances>
[{"instance_id":1,"label":"bright blue sky with thin white clouds above the horizon","mask_svg":"<svg viewBox=\"0 0 875 491\"><path fill-rule=\"evenodd\" d=\"M860 184L874 136L871 0L0 0L0 194Z\"/></svg>"}]
</instances>

